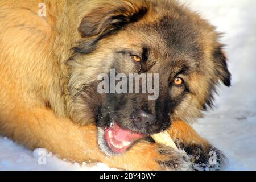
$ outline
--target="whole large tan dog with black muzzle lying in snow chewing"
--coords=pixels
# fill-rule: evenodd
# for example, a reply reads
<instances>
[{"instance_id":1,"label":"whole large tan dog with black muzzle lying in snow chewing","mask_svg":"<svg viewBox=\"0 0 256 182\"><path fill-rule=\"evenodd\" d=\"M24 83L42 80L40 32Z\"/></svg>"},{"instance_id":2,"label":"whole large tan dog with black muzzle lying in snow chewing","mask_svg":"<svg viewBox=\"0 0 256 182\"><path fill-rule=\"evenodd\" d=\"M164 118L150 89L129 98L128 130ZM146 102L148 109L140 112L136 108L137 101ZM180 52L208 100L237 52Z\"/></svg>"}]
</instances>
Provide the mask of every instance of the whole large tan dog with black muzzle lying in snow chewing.
<instances>
[{"instance_id":1,"label":"whole large tan dog with black muzzle lying in snow chewing","mask_svg":"<svg viewBox=\"0 0 256 182\"><path fill-rule=\"evenodd\" d=\"M223 169L225 156L188 124L219 81L230 86L218 38L172 0L1 0L1 134L119 169ZM158 73L159 97L98 93L112 68ZM187 157L148 137L163 130Z\"/></svg>"}]
</instances>

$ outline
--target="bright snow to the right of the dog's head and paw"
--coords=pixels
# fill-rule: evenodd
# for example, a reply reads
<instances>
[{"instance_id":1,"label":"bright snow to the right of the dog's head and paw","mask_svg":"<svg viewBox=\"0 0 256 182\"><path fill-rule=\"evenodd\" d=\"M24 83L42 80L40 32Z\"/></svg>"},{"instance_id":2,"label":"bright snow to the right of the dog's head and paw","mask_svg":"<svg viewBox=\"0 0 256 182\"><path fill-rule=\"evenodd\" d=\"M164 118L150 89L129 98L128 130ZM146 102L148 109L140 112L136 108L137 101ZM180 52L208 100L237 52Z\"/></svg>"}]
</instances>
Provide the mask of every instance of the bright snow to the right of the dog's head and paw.
<instances>
[{"instance_id":1,"label":"bright snow to the right of the dog's head and paw","mask_svg":"<svg viewBox=\"0 0 256 182\"><path fill-rule=\"evenodd\" d=\"M191 2L185 0L184 2ZM232 87L221 86L215 107L193 125L229 159L228 170L256 169L256 1L191 2L193 10L224 32Z\"/></svg>"}]
</instances>

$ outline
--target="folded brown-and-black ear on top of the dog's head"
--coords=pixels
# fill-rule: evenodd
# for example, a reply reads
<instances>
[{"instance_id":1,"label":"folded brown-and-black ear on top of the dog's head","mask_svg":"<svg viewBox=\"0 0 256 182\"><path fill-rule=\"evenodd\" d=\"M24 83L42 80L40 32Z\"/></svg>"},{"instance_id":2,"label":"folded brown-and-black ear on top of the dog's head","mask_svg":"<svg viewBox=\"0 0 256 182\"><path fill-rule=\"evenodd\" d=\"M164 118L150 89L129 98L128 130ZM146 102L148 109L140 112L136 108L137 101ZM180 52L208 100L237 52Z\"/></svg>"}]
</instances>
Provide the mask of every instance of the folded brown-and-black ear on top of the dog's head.
<instances>
[{"instance_id":1,"label":"folded brown-and-black ear on top of the dog's head","mask_svg":"<svg viewBox=\"0 0 256 182\"><path fill-rule=\"evenodd\" d=\"M110 1L90 11L78 28L84 38L107 36L129 23L137 22L147 13L147 7L140 2Z\"/></svg>"}]
</instances>

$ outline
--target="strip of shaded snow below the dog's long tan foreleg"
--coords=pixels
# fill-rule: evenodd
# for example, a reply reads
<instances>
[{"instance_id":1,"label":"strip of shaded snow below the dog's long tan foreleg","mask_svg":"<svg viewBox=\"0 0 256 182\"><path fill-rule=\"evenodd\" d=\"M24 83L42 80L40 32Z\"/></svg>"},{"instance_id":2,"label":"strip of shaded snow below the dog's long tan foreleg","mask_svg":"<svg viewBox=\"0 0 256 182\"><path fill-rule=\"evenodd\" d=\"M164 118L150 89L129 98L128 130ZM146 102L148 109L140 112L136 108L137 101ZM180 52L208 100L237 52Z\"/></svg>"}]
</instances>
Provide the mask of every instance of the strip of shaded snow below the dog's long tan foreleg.
<instances>
[{"instance_id":1,"label":"strip of shaded snow below the dog's long tan foreleg","mask_svg":"<svg viewBox=\"0 0 256 182\"><path fill-rule=\"evenodd\" d=\"M103 163L71 163L46 149L30 151L7 137L0 137L0 170L113 170Z\"/></svg>"}]
</instances>

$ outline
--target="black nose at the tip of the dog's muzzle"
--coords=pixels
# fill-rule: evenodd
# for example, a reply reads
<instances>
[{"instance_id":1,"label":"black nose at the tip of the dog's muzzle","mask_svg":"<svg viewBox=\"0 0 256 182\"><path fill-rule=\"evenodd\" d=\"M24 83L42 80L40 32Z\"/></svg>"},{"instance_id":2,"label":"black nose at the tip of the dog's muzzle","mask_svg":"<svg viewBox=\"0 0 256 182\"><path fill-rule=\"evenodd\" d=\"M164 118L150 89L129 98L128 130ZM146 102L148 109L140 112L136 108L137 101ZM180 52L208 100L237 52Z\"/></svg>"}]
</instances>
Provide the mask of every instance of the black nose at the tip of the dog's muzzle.
<instances>
[{"instance_id":1,"label":"black nose at the tip of the dog's muzzle","mask_svg":"<svg viewBox=\"0 0 256 182\"><path fill-rule=\"evenodd\" d=\"M155 116L143 111L141 109L137 109L133 113L134 123L138 127L148 127L149 125L153 125L155 123Z\"/></svg>"}]
</instances>

